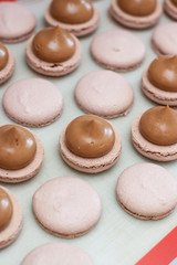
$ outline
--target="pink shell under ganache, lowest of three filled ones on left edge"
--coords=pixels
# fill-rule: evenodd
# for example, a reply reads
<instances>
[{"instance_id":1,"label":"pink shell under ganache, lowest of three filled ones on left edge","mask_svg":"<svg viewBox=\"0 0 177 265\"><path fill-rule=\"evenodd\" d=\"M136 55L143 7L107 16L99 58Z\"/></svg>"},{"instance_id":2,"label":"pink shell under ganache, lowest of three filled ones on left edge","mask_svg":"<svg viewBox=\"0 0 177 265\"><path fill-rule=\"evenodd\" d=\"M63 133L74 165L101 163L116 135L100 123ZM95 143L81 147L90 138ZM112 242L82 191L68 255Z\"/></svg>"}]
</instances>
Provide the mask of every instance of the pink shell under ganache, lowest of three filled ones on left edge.
<instances>
[{"instance_id":1,"label":"pink shell under ganache, lowest of three filled ones on left edge","mask_svg":"<svg viewBox=\"0 0 177 265\"><path fill-rule=\"evenodd\" d=\"M8 189L3 187L1 188L6 190L12 201L13 214L9 225L4 230L0 231L0 250L17 240L23 225L22 208L18 198Z\"/></svg>"}]
</instances>

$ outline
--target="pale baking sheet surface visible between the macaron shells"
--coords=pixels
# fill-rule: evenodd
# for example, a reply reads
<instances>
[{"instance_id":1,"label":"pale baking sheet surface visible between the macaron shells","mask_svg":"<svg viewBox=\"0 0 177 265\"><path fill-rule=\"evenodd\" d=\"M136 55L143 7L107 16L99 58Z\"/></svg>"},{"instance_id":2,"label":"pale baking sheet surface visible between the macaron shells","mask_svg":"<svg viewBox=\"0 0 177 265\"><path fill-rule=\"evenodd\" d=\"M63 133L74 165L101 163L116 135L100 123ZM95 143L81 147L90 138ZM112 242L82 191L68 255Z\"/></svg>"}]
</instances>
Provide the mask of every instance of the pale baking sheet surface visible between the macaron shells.
<instances>
[{"instance_id":1,"label":"pale baking sheet surface visible between the macaron shells","mask_svg":"<svg viewBox=\"0 0 177 265\"><path fill-rule=\"evenodd\" d=\"M140 38L145 43L146 59L139 68L123 74L133 85L135 103L127 116L111 120L122 136L123 151L118 162L112 169L92 176L80 173L69 168L62 161L59 153L59 135L61 130L70 120L84 114L74 100L74 86L84 74L101 70L101 66L90 55L91 41L98 32L122 28L107 14L110 2L110 0L94 1L95 7L101 13L101 23L96 32L81 39L82 62L80 67L65 77L46 77L46 80L54 83L61 91L64 97L64 110L61 118L52 125L38 129L32 128L44 146L44 162L40 173L21 184L2 183L2 186L10 189L19 198L23 208L24 225L18 240L9 247L0 251L0 265L18 265L33 247L49 242L66 242L80 246L90 254L95 265L132 265L176 226L177 210L159 221L142 221L125 213L117 204L115 195L117 178L125 168L137 162L153 162L137 153L132 146L131 126L138 113L155 106L140 92L143 70L156 57L150 47L150 36L154 28L143 31L131 30L131 32ZM45 25L43 12L48 3L49 1L39 1L35 4L32 4L32 2L28 4L25 2L37 17L37 31ZM167 21L170 21L170 19L164 14L159 23ZM12 82L35 76L43 78L42 75L34 73L28 67L24 57L25 43L27 41L7 45L15 56L17 67L12 78L0 88L1 100L4 91ZM0 106L0 125L10 123L12 121L6 116L2 106ZM176 177L176 161L159 165ZM32 195L35 190L49 179L62 176L73 176L88 181L97 190L103 202L103 213L98 224L88 234L73 240L63 240L44 232L35 222L31 210Z\"/></svg>"}]
</instances>

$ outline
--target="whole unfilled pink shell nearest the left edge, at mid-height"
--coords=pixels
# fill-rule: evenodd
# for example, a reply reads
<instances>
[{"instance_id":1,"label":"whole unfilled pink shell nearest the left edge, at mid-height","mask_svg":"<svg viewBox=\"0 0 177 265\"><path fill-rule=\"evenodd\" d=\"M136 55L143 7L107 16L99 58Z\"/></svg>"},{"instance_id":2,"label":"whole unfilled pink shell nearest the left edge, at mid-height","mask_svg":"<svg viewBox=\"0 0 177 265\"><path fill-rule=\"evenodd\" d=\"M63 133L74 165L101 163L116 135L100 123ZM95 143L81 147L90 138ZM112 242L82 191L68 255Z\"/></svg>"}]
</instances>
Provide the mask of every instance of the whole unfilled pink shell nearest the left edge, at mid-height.
<instances>
[{"instance_id":1,"label":"whole unfilled pink shell nearest the left edge, at mid-height","mask_svg":"<svg viewBox=\"0 0 177 265\"><path fill-rule=\"evenodd\" d=\"M25 78L12 83L3 95L7 115L24 126L42 127L56 120L63 108L59 88L42 78Z\"/></svg>"}]
</instances>

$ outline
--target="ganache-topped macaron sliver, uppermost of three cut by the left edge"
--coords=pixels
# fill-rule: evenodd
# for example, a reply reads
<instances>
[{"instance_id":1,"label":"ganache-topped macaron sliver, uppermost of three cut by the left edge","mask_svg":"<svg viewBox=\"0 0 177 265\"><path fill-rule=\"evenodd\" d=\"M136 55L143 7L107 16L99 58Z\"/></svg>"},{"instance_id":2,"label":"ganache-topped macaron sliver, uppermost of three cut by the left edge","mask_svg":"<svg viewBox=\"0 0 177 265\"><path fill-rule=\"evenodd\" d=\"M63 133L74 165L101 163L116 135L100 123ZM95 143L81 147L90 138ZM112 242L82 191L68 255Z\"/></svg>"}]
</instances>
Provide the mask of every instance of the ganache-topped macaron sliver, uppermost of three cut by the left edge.
<instances>
[{"instance_id":1,"label":"ganache-topped macaron sliver, uppermost of three cut by the left edge","mask_svg":"<svg viewBox=\"0 0 177 265\"><path fill-rule=\"evenodd\" d=\"M13 54L0 42L0 84L13 74L14 66Z\"/></svg>"}]
</instances>

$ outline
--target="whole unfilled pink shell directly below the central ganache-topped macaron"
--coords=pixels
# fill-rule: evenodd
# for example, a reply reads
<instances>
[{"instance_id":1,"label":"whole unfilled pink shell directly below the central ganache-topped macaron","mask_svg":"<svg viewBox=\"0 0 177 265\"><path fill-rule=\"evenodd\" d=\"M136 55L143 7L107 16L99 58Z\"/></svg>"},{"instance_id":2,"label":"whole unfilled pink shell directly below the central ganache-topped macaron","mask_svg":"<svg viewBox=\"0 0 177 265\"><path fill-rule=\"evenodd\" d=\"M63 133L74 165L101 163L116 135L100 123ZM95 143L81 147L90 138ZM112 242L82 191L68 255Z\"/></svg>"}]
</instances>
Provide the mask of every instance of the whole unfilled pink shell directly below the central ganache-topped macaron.
<instances>
[{"instance_id":1,"label":"whole unfilled pink shell directly below the central ganache-topped macaron","mask_svg":"<svg viewBox=\"0 0 177 265\"><path fill-rule=\"evenodd\" d=\"M33 213L49 233L61 237L86 234L98 222L102 203L84 180L61 177L41 186L33 195Z\"/></svg>"}]
</instances>

